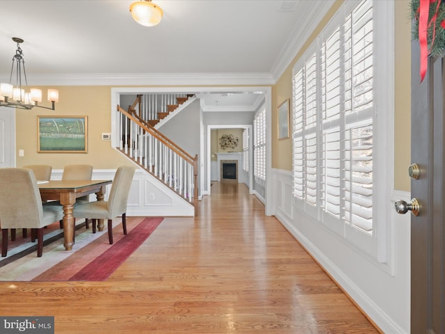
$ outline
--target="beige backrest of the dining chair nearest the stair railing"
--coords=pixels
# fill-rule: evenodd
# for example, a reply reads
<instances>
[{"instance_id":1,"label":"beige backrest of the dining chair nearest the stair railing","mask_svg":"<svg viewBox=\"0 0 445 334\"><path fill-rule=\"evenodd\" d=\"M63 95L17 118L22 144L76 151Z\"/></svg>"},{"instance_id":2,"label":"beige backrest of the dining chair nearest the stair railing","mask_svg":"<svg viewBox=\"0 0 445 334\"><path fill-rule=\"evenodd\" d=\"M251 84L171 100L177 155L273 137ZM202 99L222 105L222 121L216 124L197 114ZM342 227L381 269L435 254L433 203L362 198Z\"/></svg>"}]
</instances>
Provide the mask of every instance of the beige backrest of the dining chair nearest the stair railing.
<instances>
[{"instance_id":1,"label":"beige backrest of the dining chair nearest the stair railing","mask_svg":"<svg viewBox=\"0 0 445 334\"><path fill-rule=\"evenodd\" d=\"M110 218L127 212L128 196L135 170L133 166L120 166L116 170L107 204Z\"/></svg>"}]
</instances>

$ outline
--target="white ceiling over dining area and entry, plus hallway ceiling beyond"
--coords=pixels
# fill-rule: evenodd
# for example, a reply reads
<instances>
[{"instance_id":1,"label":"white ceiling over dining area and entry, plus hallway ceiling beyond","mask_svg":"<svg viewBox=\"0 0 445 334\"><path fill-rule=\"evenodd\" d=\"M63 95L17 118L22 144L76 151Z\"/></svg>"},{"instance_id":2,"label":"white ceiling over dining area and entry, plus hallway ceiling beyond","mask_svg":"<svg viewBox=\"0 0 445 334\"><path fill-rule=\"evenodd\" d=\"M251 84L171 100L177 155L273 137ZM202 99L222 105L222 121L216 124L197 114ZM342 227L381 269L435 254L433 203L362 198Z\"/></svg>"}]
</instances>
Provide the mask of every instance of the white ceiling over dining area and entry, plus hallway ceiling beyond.
<instances>
[{"instance_id":1,"label":"white ceiling over dining area and entry, plus hallway ceiling beyond","mask_svg":"<svg viewBox=\"0 0 445 334\"><path fill-rule=\"evenodd\" d=\"M133 1L1 0L1 82L19 37L30 85L270 85L334 2L153 0L163 19L145 27L131 18ZM258 100L230 93L200 97L211 111Z\"/></svg>"}]
</instances>

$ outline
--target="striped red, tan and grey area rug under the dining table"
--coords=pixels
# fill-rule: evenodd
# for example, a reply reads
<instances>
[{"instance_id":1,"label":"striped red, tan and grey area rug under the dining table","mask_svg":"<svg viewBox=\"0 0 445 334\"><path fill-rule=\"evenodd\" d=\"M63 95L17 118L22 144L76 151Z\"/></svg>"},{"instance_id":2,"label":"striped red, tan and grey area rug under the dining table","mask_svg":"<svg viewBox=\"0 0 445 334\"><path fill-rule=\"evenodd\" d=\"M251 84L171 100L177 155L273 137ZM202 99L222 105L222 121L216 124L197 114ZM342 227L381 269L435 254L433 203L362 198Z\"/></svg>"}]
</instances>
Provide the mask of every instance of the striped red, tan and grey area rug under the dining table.
<instances>
[{"instance_id":1,"label":"striped red, tan and grey area rug under the dining table","mask_svg":"<svg viewBox=\"0 0 445 334\"><path fill-rule=\"evenodd\" d=\"M163 218L127 218L127 235L120 219L113 220L114 244L106 228L92 234L84 223L76 227L72 250L63 247L63 231L55 223L45 231L42 257L29 239L9 242L8 257L1 257L1 281L106 280L158 227ZM17 231L18 232L18 231Z\"/></svg>"}]
</instances>

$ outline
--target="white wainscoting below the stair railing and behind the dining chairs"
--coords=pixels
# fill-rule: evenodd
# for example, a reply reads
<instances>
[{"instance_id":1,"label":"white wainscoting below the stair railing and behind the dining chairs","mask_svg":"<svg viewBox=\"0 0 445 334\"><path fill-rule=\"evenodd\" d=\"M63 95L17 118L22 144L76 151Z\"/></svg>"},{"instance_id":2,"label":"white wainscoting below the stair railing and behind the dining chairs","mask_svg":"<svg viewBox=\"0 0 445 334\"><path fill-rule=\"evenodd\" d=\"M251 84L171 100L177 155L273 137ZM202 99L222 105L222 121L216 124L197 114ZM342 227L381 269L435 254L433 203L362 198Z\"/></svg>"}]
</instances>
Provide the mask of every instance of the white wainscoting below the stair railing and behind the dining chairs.
<instances>
[{"instance_id":1,"label":"white wainscoting below the stair railing and behind the dining chairs","mask_svg":"<svg viewBox=\"0 0 445 334\"><path fill-rule=\"evenodd\" d=\"M93 180L113 180L116 170L95 169ZM53 170L51 180L61 180L63 170ZM106 188L105 200L108 200L111 185ZM96 200L90 195L90 200ZM129 193L127 216L193 216L193 205L178 196L155 177L140 168L136 168Z\"/></svg>"}]
</instances>

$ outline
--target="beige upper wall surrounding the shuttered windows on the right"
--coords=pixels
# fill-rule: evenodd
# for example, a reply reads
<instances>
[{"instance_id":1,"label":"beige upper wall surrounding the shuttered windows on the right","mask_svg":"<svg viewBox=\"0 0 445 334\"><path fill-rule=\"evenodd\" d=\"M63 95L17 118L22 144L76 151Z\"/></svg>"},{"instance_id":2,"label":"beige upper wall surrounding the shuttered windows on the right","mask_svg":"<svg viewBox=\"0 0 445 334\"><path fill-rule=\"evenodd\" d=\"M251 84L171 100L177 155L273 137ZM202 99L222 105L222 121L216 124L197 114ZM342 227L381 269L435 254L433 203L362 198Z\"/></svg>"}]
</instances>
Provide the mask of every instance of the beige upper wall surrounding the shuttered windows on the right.
<instances>
[{"instance_id":1,"label":"beige upper wall surrounding the shuttered windows on the right","mask_svg":"<svg viewBox=\"0 0 445 334\"><path fill-rule=\"evenodd\" d=\"M311 45L316 36L321 32L325 24L334 15L343 1L336 1L324 17L321 24L309 37L291 65L287 67L277 84L272 88L272 167L292 170L292 141L291 138L277 139L277 106L284 99L291 99L292 67L298 61L304 51ZM411 87L411 51L410 51L410 0L395 1L395 146L394 146L394 189L410 191L410 180L407 176L407 166L410 164L410 87ZM385 111L382 111L385 112ZM291 127L292 131L292 127Z\"/></svg>"}]
</instances>

